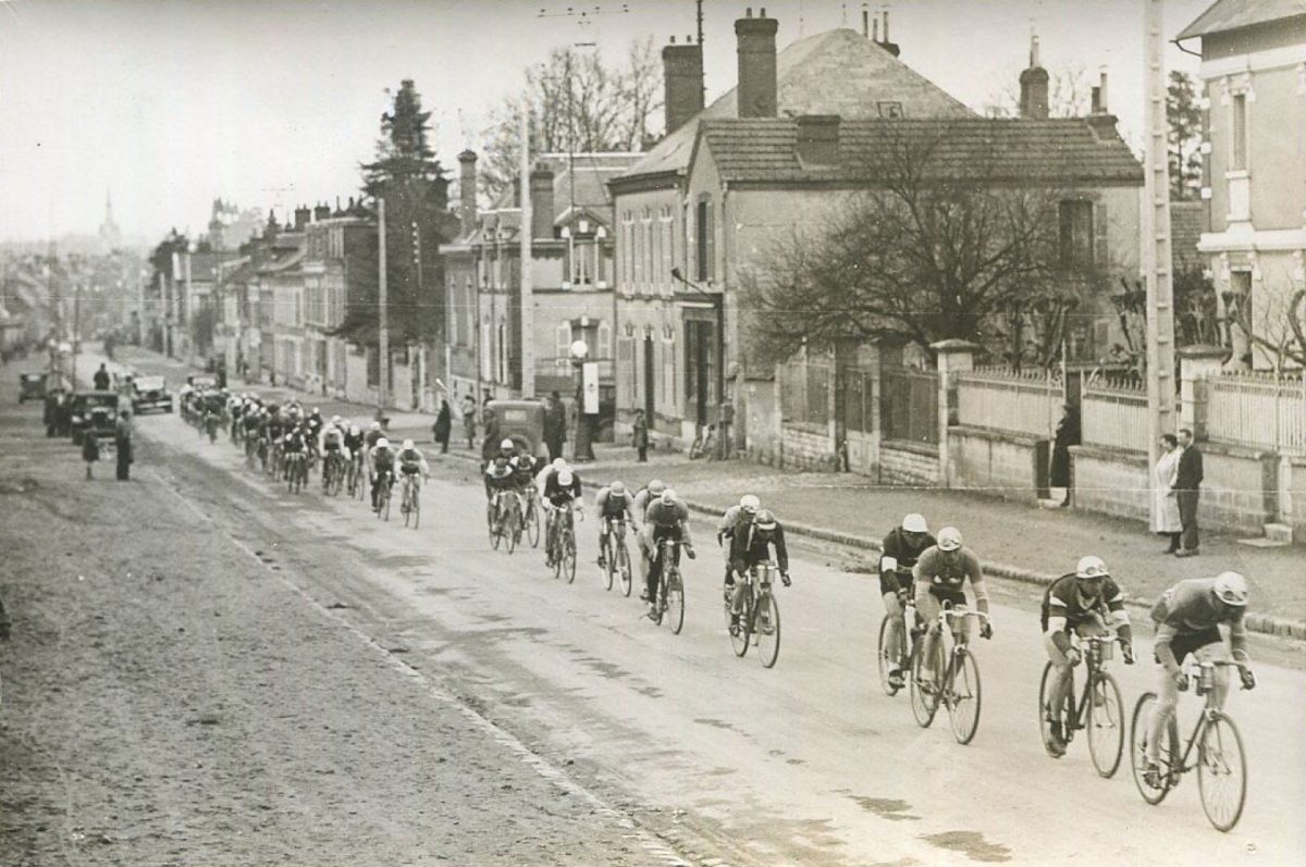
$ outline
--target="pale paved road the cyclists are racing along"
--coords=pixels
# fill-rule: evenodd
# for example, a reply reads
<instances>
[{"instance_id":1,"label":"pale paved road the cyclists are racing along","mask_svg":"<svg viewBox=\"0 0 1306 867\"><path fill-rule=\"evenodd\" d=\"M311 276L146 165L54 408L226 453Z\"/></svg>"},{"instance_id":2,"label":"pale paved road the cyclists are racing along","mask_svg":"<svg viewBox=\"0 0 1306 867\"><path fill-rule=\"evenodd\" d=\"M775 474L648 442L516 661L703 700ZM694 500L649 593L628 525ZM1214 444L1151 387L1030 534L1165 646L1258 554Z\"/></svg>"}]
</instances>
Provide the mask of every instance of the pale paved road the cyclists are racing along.
<instances>
[{"instance_id":1,"label":"pale paved road the cyclists are racing along","mask_svg":"<svg viewBox=\"0 0 1306 867\"><path fill-rule=\"evenodd\" d=\"M879 691L875 585L819 556L801 552L794 586L780 591L784 648L768 671L730 652L707 533L687 568L688 622L673 636L603 590L593 524L580 526L590 565L575 585L556 582L537 551L492 552L466 464L440 465L424 494L428 526L411 531L357 503L291 496L175 417L141 419L138 431L210 465L212 475L174 483L232 537L246 533L240 512L274 521L278 563L310 597L351 606L354 628L691 860L1306 862L1299 671L1260 665L1260 687L1232 701L1251 787L1242 823L1220 834L1195 778L1153 808L1127 764L1114 780L1097 778L1081 742L1060 761L1046 757L1034 718L1043 657L1027 606L998 606L996 637L978 642L983 718L974 743L960 747L946 719L922 730L905 696ZM1151 667L1118 666L1117 675L1131 709ZM1185 725L1194 705L1190 697L1182 708Z\"/></svg>"}]
</instances>

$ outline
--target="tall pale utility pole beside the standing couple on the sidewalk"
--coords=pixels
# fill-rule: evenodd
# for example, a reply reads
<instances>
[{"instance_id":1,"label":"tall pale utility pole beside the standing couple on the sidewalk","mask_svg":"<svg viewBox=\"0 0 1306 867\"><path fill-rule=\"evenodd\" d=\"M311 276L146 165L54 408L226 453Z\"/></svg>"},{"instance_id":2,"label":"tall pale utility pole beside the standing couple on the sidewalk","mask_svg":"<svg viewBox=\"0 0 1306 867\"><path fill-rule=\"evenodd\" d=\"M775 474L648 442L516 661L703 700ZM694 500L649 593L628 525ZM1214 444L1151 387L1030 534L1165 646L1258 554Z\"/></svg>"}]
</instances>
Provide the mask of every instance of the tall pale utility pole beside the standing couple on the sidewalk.
<instances>
[{"instance_id":1,"label":"tall pale utility pole beside the standing couple on the sidewalk","mask_svg":"<svg viewBox=\"0 0 1306 867\"><path fill-rule=\"evenodd\" d=\"M1147 283L1148 466L1174 431L1174 286L1170 259L1170 161L1166 150L1164 0L1145 0L1143 110L1147 142L1143 195L1143 277ZM1156 481L1152 481L1156 484ZM1155 491L1153 491L1155 494ZM1156 512L1156 497L1149 497ZM1153 514L1153 517L1156 517Z\"/></svg>"}]
</instances>

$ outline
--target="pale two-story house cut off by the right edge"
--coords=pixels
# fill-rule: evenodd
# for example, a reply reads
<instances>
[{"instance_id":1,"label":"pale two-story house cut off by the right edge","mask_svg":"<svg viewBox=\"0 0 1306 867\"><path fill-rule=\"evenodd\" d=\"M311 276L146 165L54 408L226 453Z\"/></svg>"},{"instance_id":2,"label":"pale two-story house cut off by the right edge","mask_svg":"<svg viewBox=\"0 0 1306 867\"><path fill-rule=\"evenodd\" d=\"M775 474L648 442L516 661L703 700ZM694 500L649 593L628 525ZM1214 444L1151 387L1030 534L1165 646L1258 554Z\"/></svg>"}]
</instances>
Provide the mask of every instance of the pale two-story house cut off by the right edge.
<instances>
[{"instance_id":1,"label":"pale two-story house cut off by the right edge","mask_svg":"<svg viewBox=\"0 0 1306 867\"><path fill-rule=\"evenodd\" d=\"M1218 0L1175 42L1187 39L1200 40L1205 86L1198 249L1229 363L1269 368L1290 334L1289 300L1306 289L1306 4Z\"/></svg>"}]
</instances>

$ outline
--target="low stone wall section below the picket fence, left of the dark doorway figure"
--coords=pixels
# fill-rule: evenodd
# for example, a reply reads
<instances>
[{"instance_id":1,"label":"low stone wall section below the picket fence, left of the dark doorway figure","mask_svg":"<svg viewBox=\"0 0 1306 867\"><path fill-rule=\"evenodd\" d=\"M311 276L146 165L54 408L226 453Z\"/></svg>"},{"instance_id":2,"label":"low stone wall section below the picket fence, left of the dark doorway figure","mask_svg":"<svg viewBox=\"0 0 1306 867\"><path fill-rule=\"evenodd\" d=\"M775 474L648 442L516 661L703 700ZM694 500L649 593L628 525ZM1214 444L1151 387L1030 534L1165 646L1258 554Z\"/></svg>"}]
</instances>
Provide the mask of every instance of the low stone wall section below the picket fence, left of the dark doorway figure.
<instances>
[{"instance_id":1,"label":"low stone wall section below the picket fence, left of the dark doorway figure","mask_svg":"<svg viewBox=\"0 0 1306 867\"><path fill-rule=\"evenodd\" d=\"M1038 462L1046 440L980 427L948 428L948 487L1037 503Z\"/></svg>"}]
</instances>

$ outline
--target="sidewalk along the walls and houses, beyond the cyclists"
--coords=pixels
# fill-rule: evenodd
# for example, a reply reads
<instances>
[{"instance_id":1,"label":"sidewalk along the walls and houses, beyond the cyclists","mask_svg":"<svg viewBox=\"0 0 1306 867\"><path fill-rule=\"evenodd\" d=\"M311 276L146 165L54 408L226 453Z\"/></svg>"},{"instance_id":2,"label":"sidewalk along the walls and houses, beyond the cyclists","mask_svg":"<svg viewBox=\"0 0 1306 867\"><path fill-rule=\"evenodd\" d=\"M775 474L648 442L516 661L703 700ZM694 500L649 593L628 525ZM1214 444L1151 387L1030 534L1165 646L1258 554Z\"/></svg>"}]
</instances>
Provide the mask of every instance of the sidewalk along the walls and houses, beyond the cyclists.
<instances>
[{"instance_id":1,"label":"sidewalk along the walls and houses, beyond the cyclists","mask_svg":"<svg viewBox=\"0 0 1306 867\"><path fill-rule=\"evenodd\" d=\"M82 358L91 359L86 354ZM282 386L234 383L232 388L259 393L294 393ZM320 406L328 417L370 420L375 411L371 406L306 394L299 394L299 400ZM394 437L410 436L423 448L432 443L434 415L396 411L390 418ZM468 449L458 434L461 426L456 422L449 453L479 460L479 443L475 450ZM709 514L720 514L743 494L756 494L790 533L868 552L879 548L880 539L904 514L919 512L932 530L948 524L957 526L966 544L980 555L985 572L1015 581L1050 584L1074 571L1080 556L1096 554L1106 560L1136 603L1149 603L1182 578L1233 569L1242 572L1251 585L1249 628L1306 640L1306 556L1297 546L1252 547L1233 537L1205 533L1200 556L1177 559L1162 552L1165 541L1138 522L1075 509L1040 509L939 488L885 487L850 473L786 473L746 461L688 461L683 453L650 452L648 464L637 464L633 449L623 445L596 444L594 456L596 461L576 466L586 484L623 479L639 487L661 478L684 496L691 509Z\"/></svg>"}]
</instances>

